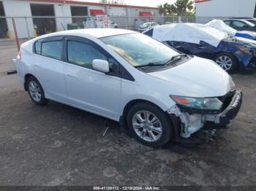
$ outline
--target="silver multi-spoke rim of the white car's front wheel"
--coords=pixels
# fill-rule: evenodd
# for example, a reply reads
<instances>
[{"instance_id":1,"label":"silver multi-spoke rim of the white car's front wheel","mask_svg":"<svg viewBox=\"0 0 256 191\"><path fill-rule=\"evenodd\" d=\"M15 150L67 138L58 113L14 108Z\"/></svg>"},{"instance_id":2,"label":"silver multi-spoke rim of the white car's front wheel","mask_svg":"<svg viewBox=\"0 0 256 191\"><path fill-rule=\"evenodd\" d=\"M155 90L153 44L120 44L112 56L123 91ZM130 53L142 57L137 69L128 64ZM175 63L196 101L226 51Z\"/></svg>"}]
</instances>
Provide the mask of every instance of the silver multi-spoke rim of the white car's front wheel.
<instances>
[{"instance_id":1,"label":"silver multi-spoke rim of the white car's front wheel","mask_svg":"<svg viewBox=\"0 0 256 191\"><path fill-rule=\"evenodd\" d=\"M148 111L136 112L132 117L135 133L144 141L157 141L162 135L162 124L157 116Z\"/></svg>"}]
</instances>

